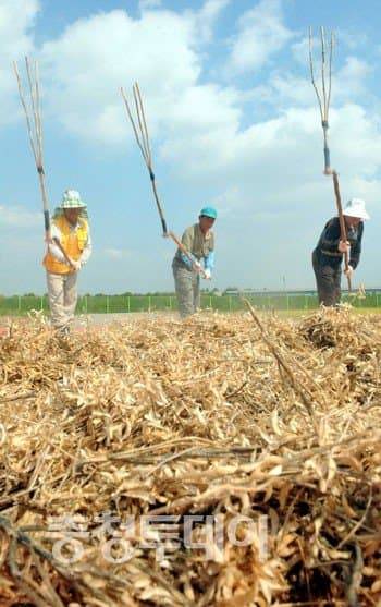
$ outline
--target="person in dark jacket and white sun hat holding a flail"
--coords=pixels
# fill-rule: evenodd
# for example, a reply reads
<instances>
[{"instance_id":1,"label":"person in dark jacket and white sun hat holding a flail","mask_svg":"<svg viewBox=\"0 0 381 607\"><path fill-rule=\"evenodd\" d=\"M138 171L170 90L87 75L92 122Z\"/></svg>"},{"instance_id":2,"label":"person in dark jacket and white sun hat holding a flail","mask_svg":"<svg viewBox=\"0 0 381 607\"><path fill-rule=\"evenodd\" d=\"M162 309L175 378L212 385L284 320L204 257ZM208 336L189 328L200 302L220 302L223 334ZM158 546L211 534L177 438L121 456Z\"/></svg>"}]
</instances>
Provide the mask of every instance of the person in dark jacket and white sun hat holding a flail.
<instances>
[{"instance_id":1,"label":"person in dark jacket and white sun hat holding a flail","mask_svg":"<svg viewBox=\"0 0 381 607\"><path fill-rule=\"evenodd\" d=\"M364 233L364 221L369 219L365 202L352 198L343 210L347 242L341 240L339 217L330 219L320 235L319 242L312 253L312 266L316 276L319 303L334 306L341 299L341 275L344 254L348 253L348 269L346 275L352 276L357 268Z\"/></svg>"}]
</instances>

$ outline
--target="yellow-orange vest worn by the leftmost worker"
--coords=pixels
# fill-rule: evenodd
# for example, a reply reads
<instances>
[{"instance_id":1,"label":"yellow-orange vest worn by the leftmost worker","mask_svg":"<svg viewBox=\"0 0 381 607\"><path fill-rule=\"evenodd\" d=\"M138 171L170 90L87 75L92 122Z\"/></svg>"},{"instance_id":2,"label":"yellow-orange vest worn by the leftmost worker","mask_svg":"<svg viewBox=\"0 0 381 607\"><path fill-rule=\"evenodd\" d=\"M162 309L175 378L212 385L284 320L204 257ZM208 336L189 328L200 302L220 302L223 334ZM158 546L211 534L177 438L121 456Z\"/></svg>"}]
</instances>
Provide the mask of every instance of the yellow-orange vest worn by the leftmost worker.
<instances>
[{"instance_id":1,"label":"yellow-orange vest worn by the leftmost worker","mask_svg":"<svg viewBox=\"0 0 381 607\"><path fill-rule=\"evenodd\" d=\"M87 221L85 219L78 219L78 226L73 230L69 221L62 216L54 219L53 224L61 232L60 242L66 255L74 260L78 260L88 239ZM49 251L44 257L42 263L46 269L51 274L69 274L72 271L67 264L56 259Z\"/></svg>"}]
</instances>

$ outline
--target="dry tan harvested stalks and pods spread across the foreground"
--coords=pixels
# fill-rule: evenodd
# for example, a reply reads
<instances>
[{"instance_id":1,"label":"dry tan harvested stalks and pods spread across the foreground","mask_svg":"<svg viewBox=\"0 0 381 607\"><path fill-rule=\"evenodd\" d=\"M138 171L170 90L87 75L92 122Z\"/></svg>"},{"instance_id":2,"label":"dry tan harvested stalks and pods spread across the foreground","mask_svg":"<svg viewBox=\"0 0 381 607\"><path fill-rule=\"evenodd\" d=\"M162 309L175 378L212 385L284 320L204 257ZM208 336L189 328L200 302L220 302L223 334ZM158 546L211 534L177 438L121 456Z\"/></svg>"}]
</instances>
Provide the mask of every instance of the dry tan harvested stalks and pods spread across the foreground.
<instances>
[{"instance_id":1,"label":"dry tan harvested stalks and pods spread across the foreground","mask_svg":"<svg viewBox=\"0 0 381 607\"><path fill-rule=\"evenodd\" d=\"M0 344L0 605L380 605L380 337L346 307L61 342L15 324ZM107 512L135 522L124 562L102 556L122 529L99 532ZM142 545L148 514L176 517L180 544L161 554L152 531ZM189 514L221 522L208 558L184 543ZM239 522L241 546L238 514L256 522ZM71 564L52 555L62 517L88 532Z\"/></svg>"}]
</instances>

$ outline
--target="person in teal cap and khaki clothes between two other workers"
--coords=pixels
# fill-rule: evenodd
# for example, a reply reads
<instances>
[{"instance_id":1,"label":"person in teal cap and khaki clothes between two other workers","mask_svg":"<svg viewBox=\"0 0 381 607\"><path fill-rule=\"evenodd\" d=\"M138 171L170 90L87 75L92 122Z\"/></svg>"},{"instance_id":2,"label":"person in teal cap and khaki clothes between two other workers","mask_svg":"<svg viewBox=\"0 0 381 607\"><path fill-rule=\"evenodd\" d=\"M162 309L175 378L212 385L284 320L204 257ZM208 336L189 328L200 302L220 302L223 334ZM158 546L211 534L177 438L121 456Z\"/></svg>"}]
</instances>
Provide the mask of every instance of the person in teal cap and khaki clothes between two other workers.
<instances>
[{"instance_id":1,"label":"person in teal cap and khaki clothes between two other workers","mask_svg":"<svg viewBox=\"0 0 381 607\"><path fill-rule=\"evenodd\" d=\"M182 318L194 314L200 306L200 275L207 280L211 279L214 267L214 234L211 228L216 219L217 210L204 207L198 223L185 230L182 244L190 254L193 263L180 248L174 256L172 269Z\"/></svg>"}]
</instances>

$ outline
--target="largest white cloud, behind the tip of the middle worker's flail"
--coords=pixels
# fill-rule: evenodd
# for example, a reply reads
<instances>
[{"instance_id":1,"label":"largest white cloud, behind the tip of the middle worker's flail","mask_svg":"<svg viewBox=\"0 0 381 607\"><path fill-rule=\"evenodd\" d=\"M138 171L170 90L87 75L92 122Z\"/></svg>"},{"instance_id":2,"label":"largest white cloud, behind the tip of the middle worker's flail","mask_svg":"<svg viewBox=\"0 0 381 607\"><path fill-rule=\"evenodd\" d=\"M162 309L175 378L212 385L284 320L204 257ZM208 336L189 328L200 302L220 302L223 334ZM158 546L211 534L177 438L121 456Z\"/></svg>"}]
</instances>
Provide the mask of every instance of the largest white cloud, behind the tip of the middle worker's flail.
<instances>
[{"instance_id":1,"label":"largest white cloud, behind the tip of the middle worker's flail","mask_svg":"<svg viewBox=\"0 0 381 607\"><path fill-rule=\"evenodd\" d=\"M119 88L131 98L138 80L151 137L237 121L234 89L199 84L199 46L229 1L208 0L197 12L144 12L139 19L115 10L70 25L41 51L50 113L97 145L132 141Z\"/></svg>"}]
</instances>

